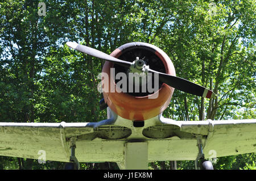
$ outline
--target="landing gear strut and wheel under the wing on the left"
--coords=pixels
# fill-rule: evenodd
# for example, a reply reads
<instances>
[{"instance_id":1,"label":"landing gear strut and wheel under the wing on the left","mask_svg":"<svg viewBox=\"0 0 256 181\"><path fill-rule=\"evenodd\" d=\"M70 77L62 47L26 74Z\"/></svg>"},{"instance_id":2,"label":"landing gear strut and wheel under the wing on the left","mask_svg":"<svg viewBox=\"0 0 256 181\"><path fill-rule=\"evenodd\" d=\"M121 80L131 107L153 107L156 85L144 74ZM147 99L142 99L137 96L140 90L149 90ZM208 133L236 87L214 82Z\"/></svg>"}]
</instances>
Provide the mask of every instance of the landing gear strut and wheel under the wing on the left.
<instances>
[{"instance_id":1,"label":"landing gear strut and wheel under the wing on the left","mask_svg":"<svg viewBox=\"0 0 256 181\"><path fill-rule=\"evenodd\" d=\"M77 161L75 156L75 149L76 149L76 138L72 137L70 141L70 148L71 148L71 156L69 157L69 162L65 163L64 170L79 170L80 164Z\"/></svg>"}]
</instances>

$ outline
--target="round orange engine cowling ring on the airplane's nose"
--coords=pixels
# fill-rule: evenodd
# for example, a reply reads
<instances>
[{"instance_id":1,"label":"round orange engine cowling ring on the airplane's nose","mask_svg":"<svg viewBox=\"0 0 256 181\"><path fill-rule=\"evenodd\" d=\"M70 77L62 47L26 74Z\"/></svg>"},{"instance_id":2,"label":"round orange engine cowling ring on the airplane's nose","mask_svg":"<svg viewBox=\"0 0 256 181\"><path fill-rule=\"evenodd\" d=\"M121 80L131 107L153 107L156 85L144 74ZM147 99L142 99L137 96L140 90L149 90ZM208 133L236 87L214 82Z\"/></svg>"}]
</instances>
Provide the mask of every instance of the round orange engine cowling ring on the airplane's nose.
<instances>
[{"instance_id":1,"label":"round orange engine cowling ring on the airplane's nose","mask_svg":"<svg viewBox=\"0 0 256 181\"><path fill-rule=\"evenodd\" d=\"M115 49L110 55L130 62L139 57L145 61L146 65L150 66L150 69L176 76L174 65L167 54L148 43L127 43ZM111 68L114 69L110 71ZM158 91L152 92L152 94L120 92L115 75L110 73L127 73L127 69L109 61L105 62L102 73L108 74L108 78L102 77L101 81L102 88L106 84L109 85L108 89L102 89L105 103L117 115L133 121L147 120L162 113L170 103L174 88L159 82ZM113 70L115 70L114 73ZM114 86L110 86L111 84Z\"/></svg>"}]
</instances>

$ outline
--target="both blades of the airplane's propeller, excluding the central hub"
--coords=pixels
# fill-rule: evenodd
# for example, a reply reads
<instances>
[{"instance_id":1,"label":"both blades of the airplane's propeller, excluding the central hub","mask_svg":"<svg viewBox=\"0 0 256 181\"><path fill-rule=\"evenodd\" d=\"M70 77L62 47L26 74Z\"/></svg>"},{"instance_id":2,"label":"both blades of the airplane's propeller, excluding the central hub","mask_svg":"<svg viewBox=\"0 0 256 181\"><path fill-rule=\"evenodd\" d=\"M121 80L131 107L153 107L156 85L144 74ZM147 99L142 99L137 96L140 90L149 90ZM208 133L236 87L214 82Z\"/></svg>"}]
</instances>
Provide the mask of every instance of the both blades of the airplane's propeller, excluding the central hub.
<instances>
[{"instance_id":1,"label":"both blades of the airplane's propeller, excluding the central hub","mask_svg":"<svg viewBox=\"0 0 256 181\"><path fill-rule=\"evenodd\" d=\"M123 60L119 60L118 58L112 57L109 54L103 53L99 50L96 50L94 48L87 47L85 45L80 45L74 42L67 42L66 43L68 47L71 47L73 49L79 50L80 52L89 54L93 57L101 58L103 60L107 60L110 62L114 62L115 64L125 66L126 68L130 68L130 66L133 64L132 62L127 62ZM161 82L166 83L167 85L174 87L177 90L187 92L189 94L201 96L203 98L214 98L215 94L213 91L197 85L196 83L190 82L184 78L168 75L161 73L159 71L155 71L152 69L147 69L148 72L155 73L159 75L159 80Z\"/></svg>"}]
</instances>

